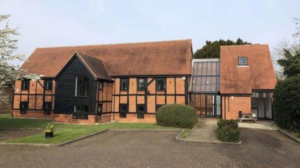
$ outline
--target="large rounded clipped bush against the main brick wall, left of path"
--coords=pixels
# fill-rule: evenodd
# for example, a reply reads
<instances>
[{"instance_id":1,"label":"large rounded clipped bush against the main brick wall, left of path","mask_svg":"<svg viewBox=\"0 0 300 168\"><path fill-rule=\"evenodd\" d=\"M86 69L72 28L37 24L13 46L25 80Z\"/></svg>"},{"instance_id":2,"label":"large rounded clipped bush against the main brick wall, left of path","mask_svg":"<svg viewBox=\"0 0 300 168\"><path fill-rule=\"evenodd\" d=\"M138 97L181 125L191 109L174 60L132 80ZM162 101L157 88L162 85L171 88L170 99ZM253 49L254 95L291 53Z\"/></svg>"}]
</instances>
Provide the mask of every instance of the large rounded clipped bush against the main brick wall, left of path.
<instances>
[{"instance_id":1,"label":"large rounded clipped bush against the main brick wall, left of path","mask_svg":"<svg viewBox=\"0 0 300 168\"><path fill-rule=\"evenodd\" d=\"M161 106L155 114L156 124L168 127L193 128L197 122L196 110L184 104Z\"/></svg>"}]
</instances>

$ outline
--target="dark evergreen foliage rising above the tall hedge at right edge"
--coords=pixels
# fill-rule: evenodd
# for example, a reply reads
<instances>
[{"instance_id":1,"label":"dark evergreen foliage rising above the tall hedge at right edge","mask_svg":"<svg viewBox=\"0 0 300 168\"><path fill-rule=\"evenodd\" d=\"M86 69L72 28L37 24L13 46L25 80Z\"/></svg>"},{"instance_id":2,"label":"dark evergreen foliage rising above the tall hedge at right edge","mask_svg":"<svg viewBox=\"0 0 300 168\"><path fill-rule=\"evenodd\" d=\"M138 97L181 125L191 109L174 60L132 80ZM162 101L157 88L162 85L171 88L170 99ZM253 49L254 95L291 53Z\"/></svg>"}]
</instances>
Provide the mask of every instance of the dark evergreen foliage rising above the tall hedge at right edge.
<instances>
[{"instance_id":1,"label":"dark evergreen foliage rising above the tall hedge at right edge","mask_svg":"<svg viewBox=\"0 0 300 168\"><path fill-rule=\"evenodd\" d=\"M300 74L300 53L292 55L289 50L284 50L284 58L277 62L283 67L283 75L293 77Z\"/></svg>"}]
</instances>

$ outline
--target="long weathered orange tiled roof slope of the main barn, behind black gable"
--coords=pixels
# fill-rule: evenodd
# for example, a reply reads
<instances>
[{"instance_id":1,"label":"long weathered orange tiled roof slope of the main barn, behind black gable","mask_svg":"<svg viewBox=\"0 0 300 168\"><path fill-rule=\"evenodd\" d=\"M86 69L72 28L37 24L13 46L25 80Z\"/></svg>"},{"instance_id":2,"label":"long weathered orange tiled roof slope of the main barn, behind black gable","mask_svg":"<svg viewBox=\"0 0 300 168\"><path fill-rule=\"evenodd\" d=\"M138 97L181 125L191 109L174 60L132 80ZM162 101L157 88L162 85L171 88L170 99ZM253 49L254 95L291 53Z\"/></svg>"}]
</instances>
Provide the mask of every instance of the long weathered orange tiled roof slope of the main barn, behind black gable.
<instances>
[{"instance_id":1,"label":"long weathered orange tiled roof slope of the main barn, behind black gable","mask_svg":"<svg viewBox=\"0 0 300 168\"><path fill-rule=\"evenodd\" d=\"M101 59L110 76L191 74L191 39L37 48L21 68L55 77L75 51Z\"/></svg>"}]
</instances>

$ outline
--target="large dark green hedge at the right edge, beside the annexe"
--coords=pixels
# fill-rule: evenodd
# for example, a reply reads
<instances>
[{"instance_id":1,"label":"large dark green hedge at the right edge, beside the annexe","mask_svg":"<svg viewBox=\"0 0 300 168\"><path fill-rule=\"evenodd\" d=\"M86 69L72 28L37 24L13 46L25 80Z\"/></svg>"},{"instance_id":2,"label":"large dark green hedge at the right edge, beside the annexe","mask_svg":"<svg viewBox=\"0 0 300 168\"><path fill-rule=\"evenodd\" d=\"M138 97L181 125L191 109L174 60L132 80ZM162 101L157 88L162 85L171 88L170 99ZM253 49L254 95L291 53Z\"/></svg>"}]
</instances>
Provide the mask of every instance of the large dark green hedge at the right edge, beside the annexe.
<instances>
[{"instance_id":1,"label":"large dark green hedge at the right edge, beside the annexe","mask_svg":"<svg viewBox=\"0 0 300 168\"><path fill-rule=\"evenodd\" d=\"M276 124L289 131L300 131L300 76L278 81L274 89Z\"/></svg>"}]
</instances>

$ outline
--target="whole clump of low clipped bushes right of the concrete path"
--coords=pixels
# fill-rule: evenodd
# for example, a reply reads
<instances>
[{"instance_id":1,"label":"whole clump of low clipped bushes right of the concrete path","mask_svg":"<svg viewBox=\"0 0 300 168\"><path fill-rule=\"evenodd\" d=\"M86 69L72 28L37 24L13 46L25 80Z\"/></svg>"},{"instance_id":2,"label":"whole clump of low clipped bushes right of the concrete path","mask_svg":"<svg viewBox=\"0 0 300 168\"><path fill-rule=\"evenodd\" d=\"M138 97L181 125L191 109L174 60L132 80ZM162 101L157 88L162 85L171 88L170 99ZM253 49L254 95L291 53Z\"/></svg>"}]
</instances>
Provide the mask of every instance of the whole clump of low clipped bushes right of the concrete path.
<instances>
[{"instance_id":1,"label":"whole clump of low clipped bushes right of the concrete path","mask_svg":"<svg viewBox=\"0 0 300 168\"><path fill-rule=\"evenodd\" d=\"M219 140L224 142L238 142L239 141L239 129L237 121L231 120L219 120L217 122L218 130L217 136Z\"/></svg>"}]
</instances>

